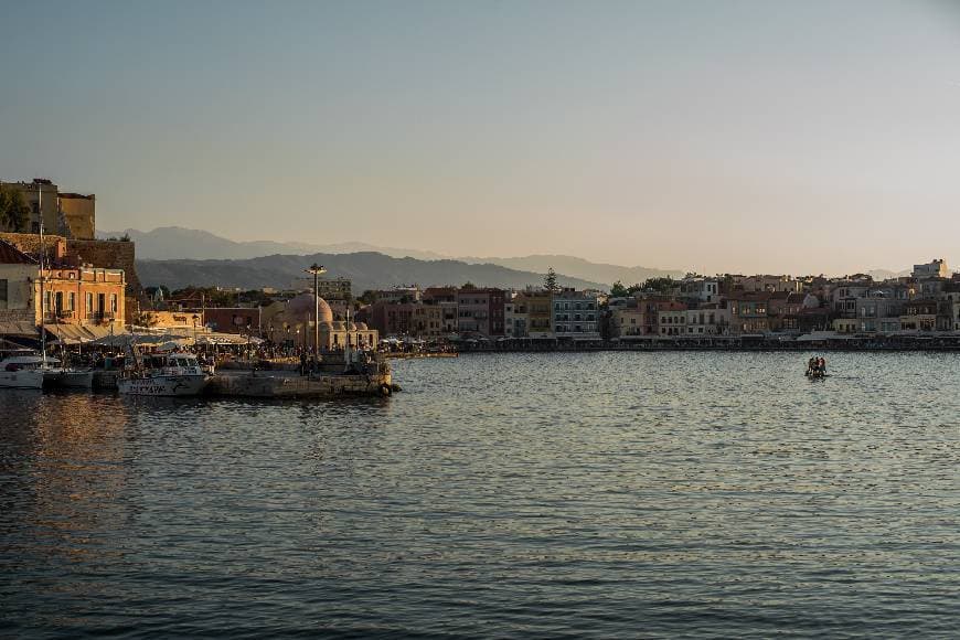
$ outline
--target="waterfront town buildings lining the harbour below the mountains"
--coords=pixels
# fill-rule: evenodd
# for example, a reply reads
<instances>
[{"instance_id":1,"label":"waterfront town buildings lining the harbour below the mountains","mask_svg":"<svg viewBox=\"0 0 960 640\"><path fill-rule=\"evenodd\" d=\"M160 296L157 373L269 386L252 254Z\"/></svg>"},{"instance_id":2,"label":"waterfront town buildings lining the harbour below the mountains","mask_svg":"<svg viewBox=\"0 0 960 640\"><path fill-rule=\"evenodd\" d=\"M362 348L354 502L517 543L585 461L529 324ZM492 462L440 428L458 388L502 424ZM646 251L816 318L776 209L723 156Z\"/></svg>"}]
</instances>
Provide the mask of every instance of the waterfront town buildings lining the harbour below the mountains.
<instances>
[{"instance_id":1,"label":"waterfront town buildings lining the harbour below the mountains","mask_svg":"<svg viewBox=\"0 0 960 640\"><path fill-rule=\"evenodd\" d=\"M687 274L612 282L609 290L562 287L553 270L524 289L428 282L354 291L349 278L326 274L314 302L309 278L247 291L143 287L135 243L95 238L95 205L94 195L60 191L50 180L0 182L0 338L36 340L45 331L83 343L139 327L255 337L288 349L483 350L930 339L949 345L960 337L960 275L943 259L885 280Z\"/></svg>"}]
</instances>

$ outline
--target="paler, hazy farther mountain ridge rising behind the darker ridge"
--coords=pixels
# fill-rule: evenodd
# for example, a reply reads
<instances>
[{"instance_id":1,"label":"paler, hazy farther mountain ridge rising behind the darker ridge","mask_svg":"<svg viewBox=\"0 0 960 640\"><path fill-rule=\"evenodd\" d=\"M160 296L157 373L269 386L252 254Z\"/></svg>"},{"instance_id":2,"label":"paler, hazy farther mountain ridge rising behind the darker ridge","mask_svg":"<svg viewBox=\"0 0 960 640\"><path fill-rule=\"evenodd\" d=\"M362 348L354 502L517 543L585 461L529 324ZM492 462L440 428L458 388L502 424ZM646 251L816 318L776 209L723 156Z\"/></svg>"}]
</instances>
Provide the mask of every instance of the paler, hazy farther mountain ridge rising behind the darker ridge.
<instances>
[{"instance_id":1,"label":"paler, hazy farther mountain ridge rising behind the darker ridge","mask_svg":"<svg viewBox=\"0 0 960 640\"><path fill-rule=\"evenodd\" d=\"M137 243L137 257L142 260L212 260L212 259L249 259L270 255L308 255L308 254L351 254L380 253L394 258L417 258L420 260L450 259L471 265L498 265L520 271L545 274L553 267L558 274L572 278L601 282L609 287L617 280L625 285L642 282L647 278L683 276L682 270L657 269L649 267L623 267L619 265L599 264L566 255L532 255L514 258L499 257L454 257L436 252L405 249L397 247L380 247L367 243L348 242L317 245L299 242L253 241L237 242L213 233L190 230L179 226L158 227L142 232L128 228L122 232L97 232L97 237L120 237L128 235Z\"/></svg>"}]
</instances>

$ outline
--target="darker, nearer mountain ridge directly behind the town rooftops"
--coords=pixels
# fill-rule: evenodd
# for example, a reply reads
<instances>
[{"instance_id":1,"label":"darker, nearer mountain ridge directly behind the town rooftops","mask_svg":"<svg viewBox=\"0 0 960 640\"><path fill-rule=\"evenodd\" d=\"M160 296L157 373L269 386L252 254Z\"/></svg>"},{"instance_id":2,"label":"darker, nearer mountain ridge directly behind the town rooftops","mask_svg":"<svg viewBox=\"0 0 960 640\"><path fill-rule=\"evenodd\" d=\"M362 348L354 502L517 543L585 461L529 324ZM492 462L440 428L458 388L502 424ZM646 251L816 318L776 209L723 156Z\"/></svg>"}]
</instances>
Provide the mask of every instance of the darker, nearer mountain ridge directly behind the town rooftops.
<instances>
[{"instance_id":1,"label":"darker, nearer mountain ridge directly behind the town rooftops","mask_svg":"<svg viewBox=\"0 0 960 640\"><path fill-rule=\"evenodd\" d=\"M353 254L271 255L244 260L137 260L137 273L145 286L166 285L180 289L190 285L242 289L263 287L306 287L305 267L318 263L330 276L350 278L354 295L366 289L388 289L398 285L422 287L462 285L523 289L538 286L543 275L509 269L499 265L470 265L460 260L395 258L374 252ZM604 282L558 275L557 281L577 289L607 289Z\"/></svg>"}]
</instances>

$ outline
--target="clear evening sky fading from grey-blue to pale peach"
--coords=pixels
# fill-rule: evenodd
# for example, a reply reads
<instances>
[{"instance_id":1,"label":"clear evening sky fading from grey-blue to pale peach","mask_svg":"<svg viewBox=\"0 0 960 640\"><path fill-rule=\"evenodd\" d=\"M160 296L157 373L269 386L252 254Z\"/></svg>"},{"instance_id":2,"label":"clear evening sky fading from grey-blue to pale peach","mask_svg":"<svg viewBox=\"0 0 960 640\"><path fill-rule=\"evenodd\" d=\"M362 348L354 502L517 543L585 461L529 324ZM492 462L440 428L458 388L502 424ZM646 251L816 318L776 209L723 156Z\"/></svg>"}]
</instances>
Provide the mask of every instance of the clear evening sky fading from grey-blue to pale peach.
<instances>
[{"instance_id":1,"label":"clear evening sky fading from grey-blue to pale peach","mask_svg":"<svg viewBox=\"0 0 960 640\"><path fill-rule=\"evenodd\" d=\"M960 265L960 2L4 0L0 180L105 231Z\"/></svg>"}]
</instances>

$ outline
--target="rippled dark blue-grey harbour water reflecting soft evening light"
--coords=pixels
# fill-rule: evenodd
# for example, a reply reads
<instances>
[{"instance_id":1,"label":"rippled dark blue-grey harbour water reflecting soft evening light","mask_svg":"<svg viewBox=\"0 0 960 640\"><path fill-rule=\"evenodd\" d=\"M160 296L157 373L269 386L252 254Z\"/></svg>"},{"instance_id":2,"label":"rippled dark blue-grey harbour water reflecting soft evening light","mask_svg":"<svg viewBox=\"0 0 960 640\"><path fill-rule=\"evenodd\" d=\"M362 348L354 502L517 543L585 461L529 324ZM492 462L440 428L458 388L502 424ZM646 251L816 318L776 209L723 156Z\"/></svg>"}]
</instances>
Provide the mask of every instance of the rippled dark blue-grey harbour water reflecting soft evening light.
<instances>
[{"instance_id":1,"label":"rippled dark blue-grey harbour water reflecting soft evening light","mask_svg":"<svg viewBox=\"0 0 960 640\"><path fill-rule=\"evenodd\" d=\"M960 356L804 358L405 361L343 403L0 391L0 636L957 637Z\"/></svg>"}]
</instances>

